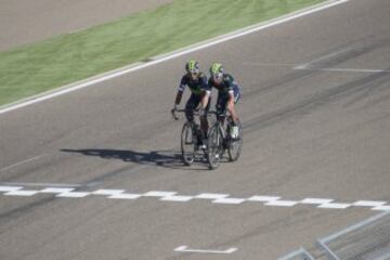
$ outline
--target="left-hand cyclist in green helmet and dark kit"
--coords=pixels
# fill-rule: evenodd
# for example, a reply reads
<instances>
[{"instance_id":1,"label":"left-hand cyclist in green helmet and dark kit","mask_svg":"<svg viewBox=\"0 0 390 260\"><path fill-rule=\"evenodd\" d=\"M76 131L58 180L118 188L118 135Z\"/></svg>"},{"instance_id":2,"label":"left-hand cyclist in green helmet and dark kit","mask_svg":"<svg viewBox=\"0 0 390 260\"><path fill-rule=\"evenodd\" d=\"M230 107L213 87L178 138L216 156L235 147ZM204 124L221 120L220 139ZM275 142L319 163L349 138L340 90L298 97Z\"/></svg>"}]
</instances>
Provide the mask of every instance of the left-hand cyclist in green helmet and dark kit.
<instances>
[{"instance_id":1,"label":"left-hand cyclist in green helmet and dark kit","mask_svg":"<svg viewBox=\"0 0 390 260\"><path fill-rule=\"evenodd\" d=\"M194 110L199 107L203 138L198 140L198 145L203 146L203 139L207 138L207 112L210 108L209 100L211 90L207 83L207 76L199 70L198 62L194 60L188 61L185 64L185 72L186 74L180 80L172 114L177 110L177 107L182 100L185 87L187 86L192 93L185 105L185 117L188 121L194 120Z\"/></svg>"}]
</instances>

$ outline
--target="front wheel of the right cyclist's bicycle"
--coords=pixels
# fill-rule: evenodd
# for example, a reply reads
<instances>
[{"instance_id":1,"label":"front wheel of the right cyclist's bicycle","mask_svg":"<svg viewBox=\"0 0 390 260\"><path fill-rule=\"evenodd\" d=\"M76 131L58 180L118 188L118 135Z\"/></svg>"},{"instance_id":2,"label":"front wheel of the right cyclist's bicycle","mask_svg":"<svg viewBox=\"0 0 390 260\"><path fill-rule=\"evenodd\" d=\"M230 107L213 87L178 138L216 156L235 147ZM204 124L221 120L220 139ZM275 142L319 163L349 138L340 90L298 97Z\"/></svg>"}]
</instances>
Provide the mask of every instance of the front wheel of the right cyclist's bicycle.
<instances>
[{"instance_id":1,"label":"front wheel of the right cyclist's bicycle","mask_svg":"<svg viewBox=\"0 0 390 260\"><path fill-rule=\"evenodd\" d=\"M220 165L221 158L223 156L223 138L219 129L219 125L216 123L208 134L208 145L207 145L207 161L210 169L217 169Z\"/></svg>"}]
</instances>

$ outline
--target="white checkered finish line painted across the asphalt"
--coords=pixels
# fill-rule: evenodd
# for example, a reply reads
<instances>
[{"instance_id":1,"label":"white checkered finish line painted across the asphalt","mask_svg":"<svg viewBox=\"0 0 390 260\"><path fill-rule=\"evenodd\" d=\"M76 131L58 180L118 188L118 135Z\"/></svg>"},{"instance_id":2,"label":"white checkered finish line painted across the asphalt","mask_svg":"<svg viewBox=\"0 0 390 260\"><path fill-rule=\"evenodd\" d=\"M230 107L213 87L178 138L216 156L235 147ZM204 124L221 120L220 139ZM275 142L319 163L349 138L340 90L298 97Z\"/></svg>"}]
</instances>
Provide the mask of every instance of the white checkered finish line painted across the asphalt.
<instances>
[{"instance_id":1,"label":"white checkered finish line painted across the asphalt","mask_svg":"<svg viewBox=\"0 0 390 260\"><path fill-rule=\"evenodd\" d=\"M255 195L248 198L231 197L230 194L200 193L198 195L179 195L177 192L151 191L143 194L127 193L125 190L96 190L93 192L79 192L72 187L46 187L42 190L25 190L23 186L1 186L0 194L4 196L35 196L38 194L53 194L58 198L83 198L101 196L107 199L155 198L161 202L187 203L190 200L210 200L219 205L240 205L257 203L269 207L295 207L299 205L313 206L320 209L347 209L352 207L367 208L377 211L390 211L390 205L382 200L358 200L354 203L337 203L332 198L303 198L301 200L286 200L277 196Z\"/></svg>"}]
</instances>

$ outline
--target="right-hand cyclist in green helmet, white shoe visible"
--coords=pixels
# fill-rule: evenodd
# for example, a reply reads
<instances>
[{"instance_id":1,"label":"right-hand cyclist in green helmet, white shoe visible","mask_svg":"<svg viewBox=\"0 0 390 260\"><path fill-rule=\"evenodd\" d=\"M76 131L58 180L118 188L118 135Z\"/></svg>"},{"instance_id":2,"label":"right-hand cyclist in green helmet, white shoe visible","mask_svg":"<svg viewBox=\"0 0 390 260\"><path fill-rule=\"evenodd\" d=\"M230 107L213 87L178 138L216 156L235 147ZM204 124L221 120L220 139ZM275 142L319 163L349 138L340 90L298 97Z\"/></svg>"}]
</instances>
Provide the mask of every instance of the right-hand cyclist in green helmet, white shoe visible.
<instances>
[{"instance_id":1,"label":"right-hand cyclist in green helmet, white shoe visible","mask_svg":"<svg viewBox=\"0 0 390 260\"><path fill-rule=\"evenodd\" d=\"M238 115L235 110L235 104L240 99L240 88L234 80L233 76L226 74L221 63L213 63L210 67L210 79L208 80L209 88L218 90L217 99L217 114L219 117L224 116L226 109L230 112L233 127L231 128L231 136L238 138Z\"/></svg>"}]
</instances>

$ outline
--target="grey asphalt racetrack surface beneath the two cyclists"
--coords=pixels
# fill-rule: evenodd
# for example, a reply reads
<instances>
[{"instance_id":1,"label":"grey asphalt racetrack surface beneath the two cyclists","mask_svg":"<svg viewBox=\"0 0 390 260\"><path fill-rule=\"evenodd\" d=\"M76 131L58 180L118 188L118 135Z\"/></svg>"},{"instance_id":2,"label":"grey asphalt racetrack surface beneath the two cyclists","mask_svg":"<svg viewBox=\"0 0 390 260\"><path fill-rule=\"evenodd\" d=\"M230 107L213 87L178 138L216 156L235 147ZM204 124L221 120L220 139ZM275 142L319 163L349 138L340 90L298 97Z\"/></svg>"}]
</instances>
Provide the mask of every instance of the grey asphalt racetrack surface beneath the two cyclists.
<instances>
[{"instance_id":1,"label":"grey asphalt racetrack surface beneath the two cyclists","mask_svg":"<svg viewBox=\"0 0 390 260\"><path fill-rule=\"evenodd\" d=\"M276 259L378 213L342 204L390 202L389 11L387 0L349 1L2 114L0 185L75 184L81 197L1 192L0 259ZM243 86L243 154L216 171L177 156L183 120L169 109L191 57L204 70L222 62ZM304 198L338 208L294 205ZM237 250L174 251L184 245Z\"/></svg>"}]
</instances>

